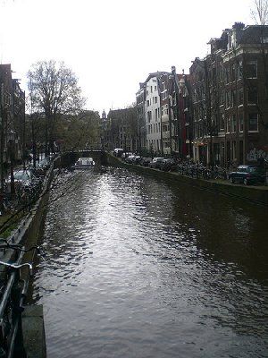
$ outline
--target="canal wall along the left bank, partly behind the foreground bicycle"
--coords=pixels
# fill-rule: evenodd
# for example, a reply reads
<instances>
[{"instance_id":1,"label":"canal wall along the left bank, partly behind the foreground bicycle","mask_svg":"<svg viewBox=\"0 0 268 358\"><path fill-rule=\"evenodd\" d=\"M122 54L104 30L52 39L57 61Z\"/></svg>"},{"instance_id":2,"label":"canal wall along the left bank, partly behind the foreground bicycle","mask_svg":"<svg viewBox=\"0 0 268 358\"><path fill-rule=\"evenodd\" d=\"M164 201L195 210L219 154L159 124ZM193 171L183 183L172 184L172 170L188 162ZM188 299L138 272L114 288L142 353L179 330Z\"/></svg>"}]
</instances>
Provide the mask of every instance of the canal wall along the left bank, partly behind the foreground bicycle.
<instances>
[{"instance_id":1,"label":"canal wall along the left bank, partly behind the foreground bicycle","mask_svg":"<svg viewBox=\"0 0 268 358\"><path fill-rule=\"evenodd\" d=\"M46 178L43 184L43 190L38 201L29 210L29 213L23 217L20 226L6 239L8 243L20 243L26 249L37 246L40 234L43 231L44 221L46 217L46 208L49 196L49 188L54 177L54 166L59 165L60 159L56 158L50 169L46 173ZM25 252L22 262L33 262L34 251ZM14 261L13 250L0 251L0 260L4 262ZM4 265L0 267L0 278L6 276L6 268ZM25 282L29 279L28 270L21 268L21 279ZM30 294L26 293L26 300ZM27 304L27 303L23 303ZM43 317L42 305L29 305L25 306L21 319L23 346L26 350L27 357L29 358L46 358L46 335L45 324ZM20 342L21 343L21 342Z\"/></svg>"}]
</instances>

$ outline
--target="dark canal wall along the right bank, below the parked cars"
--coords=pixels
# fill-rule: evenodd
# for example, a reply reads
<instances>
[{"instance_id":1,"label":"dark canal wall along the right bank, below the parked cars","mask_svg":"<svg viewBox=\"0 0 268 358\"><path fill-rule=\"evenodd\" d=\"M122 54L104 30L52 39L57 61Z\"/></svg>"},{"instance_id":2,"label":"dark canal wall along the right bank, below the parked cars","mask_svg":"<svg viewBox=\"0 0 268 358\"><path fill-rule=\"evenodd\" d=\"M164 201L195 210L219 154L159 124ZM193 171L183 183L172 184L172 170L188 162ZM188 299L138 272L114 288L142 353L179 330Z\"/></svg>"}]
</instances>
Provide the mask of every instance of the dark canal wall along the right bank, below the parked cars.
<instances>
[{"instance_id":1,"label":"dark canal wall along the right bank, below the parked cars","mask_svg":"<svg viewBox=\"0 0 268 358\"><path fill-rule=\"evenodd\" d=\"M111 154L107 154L107 162L110 166L127 167L128 169L142 173L144 175L153 175L163 180L172 180L172 182L186 184L207 190L210 192L221 193L240 200L262 205L268 208L268 187L259 185L242 185L229 183L223 180L205 180L191 178L189 176L180 175L176 172L163 172L162 170L152 169L147 166L138 166L125 163L121 158L116 158Z\"/></svg>"}]
</instances>

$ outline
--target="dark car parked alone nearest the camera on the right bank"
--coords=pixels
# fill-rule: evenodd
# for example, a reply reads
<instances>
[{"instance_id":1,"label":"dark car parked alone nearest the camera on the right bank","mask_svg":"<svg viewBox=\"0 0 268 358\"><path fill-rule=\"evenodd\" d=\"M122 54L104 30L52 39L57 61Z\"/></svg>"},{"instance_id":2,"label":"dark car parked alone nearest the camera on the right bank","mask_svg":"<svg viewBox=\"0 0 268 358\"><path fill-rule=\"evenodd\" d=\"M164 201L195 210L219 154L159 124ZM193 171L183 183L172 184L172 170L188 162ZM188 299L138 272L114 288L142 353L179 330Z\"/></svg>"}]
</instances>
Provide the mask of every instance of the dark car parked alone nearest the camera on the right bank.
<instances>
[{"instance_id":1,"label":"dark car parked alone nearest the camera on the right bank","mask_svg":"<svg viewBox=\"0 0 268 358\"><path fill-rule=\"evenodd\" d=\"M238 166L228 175L230 183L265 183L265 169L262 166Z\"/></svg>"}]
</instances>

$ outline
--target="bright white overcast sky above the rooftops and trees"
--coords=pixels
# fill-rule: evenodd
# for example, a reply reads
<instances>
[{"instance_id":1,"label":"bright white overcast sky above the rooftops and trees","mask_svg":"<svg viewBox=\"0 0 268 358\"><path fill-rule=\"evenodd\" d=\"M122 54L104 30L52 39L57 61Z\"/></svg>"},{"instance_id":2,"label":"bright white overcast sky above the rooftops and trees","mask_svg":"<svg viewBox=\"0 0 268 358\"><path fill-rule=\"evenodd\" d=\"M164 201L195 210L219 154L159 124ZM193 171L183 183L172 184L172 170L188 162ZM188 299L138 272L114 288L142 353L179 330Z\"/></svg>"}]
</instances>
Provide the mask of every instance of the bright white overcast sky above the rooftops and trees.
<instances>
[{"instance_id":1,"label":"bright white overcast sky above the rooftops and trees","mask_svg":"<svg viewBox=\"0 0 268 358\"><path fill-rule=\"evenodd\" d=\"M102 112L135 101L149 72L188 72L206 43L235 21L253 24L252 0L0 0L0 61L26 90L41 60L64 61L87 107Z\"/></svg>"}]
</instances>

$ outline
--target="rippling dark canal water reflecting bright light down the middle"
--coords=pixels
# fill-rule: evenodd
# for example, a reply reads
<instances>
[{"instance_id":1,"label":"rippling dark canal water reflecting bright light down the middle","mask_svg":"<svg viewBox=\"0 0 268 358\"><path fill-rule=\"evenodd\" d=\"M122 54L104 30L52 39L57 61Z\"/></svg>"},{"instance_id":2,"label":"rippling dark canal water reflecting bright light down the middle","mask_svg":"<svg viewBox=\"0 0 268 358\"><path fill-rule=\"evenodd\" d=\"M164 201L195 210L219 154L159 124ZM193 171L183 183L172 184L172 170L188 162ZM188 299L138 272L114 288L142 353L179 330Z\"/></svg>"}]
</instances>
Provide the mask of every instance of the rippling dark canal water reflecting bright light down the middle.
<instances>
[{"instance_id":1,"label":"rippling dark canal water reflecting bright light down the middle","mask_svg":"<svg viewBox=\"0 0 268 358\"><path fill-rule=\"evenodd\" d=\"M63 175L33 282L48 358L267 357L267 219L122 168Z\"/></svg>"}]
</instances>

